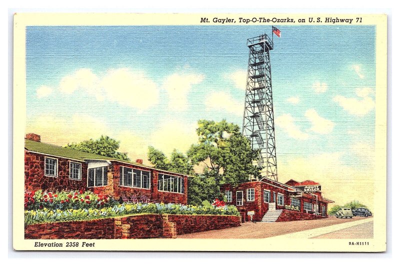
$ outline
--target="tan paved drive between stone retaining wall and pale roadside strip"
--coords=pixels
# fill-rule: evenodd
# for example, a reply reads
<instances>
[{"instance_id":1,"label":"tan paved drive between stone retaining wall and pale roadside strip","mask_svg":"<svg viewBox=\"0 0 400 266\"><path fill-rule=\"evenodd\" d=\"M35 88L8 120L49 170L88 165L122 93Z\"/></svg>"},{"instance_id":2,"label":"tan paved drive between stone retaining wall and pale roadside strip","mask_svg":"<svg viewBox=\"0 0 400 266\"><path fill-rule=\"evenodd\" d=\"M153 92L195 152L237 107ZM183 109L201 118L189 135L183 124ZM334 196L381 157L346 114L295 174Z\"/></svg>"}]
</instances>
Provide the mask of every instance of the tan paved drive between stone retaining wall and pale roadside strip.
<instances>
[{"instance_id":1,"label":"tan paved drive between stone retaining wall and pale roadside strip","mask_svg":"<svg viewBox=\"0 0 400 266\"><path fill-rule=\"evenodd\" d=\"M178 238L265 238L281 234L290 234L298 231L309 230L333 224L352 222L365 219L364 217L343 218L328 217L316 220L282 221L282 222L245 222L240 226L195 232L178 235ZM351 225L349 225L351 226ZM337 229L336 229L337 230ZM331 232L327 231L326 233ZM320 234L320 233L319 233Z\"/></svg>"}]
</instances>

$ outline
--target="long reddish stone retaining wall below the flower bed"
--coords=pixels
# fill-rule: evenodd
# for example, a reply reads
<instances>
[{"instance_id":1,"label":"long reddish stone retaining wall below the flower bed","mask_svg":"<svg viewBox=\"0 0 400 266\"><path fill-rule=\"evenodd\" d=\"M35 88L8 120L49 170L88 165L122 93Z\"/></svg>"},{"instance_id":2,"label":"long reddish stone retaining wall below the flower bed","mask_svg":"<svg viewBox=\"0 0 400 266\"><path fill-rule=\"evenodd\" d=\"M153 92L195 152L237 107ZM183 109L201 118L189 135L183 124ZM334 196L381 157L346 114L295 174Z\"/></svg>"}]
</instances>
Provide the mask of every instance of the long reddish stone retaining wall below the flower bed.
<instances>
[{"instance_id":1,"label":"long reddish stone retaining wall below the flower bed","mask_svg":"<svg viewBox=\"0 0 400 266\"><path fill-rule=\"evenodd\" d=\"M240 225L232 215L137 214L25 226L25 239L175 238L177 234Z\"/></svg>"}]
</instances>

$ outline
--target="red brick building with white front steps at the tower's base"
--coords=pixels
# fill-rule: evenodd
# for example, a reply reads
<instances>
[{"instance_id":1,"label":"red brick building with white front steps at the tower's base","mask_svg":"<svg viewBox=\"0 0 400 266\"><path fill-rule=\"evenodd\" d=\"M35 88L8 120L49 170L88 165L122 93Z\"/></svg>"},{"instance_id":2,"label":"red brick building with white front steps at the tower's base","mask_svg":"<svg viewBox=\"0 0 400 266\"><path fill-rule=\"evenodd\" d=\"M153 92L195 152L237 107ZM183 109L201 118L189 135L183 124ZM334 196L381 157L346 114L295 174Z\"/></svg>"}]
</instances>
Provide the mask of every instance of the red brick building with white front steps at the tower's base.
<instances>
[{"instance_id":1,"label":"red brick building with white front steps at the tower's base","mask_svg":"<svg viewBox=\"0 0 400 266\"><path fill-rule=\"evenodd\" d=\"M327 217L327 204L321 186L311 180L293 179L280 183L268 178L232 186L224 184L221 191L228 204L236 205L242 219L253 221L286 221Z\"/></svg>"}]
</instances>

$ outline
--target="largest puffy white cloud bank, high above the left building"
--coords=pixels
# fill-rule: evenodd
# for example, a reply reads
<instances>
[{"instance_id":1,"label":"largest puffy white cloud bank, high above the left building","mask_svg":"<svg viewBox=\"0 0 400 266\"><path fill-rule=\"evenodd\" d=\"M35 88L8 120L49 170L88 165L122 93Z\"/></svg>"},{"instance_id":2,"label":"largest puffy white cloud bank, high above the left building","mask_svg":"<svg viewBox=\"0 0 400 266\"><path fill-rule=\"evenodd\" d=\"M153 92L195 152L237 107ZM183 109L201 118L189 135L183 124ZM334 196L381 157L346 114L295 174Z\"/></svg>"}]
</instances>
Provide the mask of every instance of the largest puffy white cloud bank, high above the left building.
<instances>
[{"instance_id":1,"label":"largest puffy white cloud bank, high above the left building","mask_svg":"<svg viewBox=\"0 0 400 266\"><path fill-rule=\"evenodd\" d=\"M65 94L84 90L94 95L98 101L108 98L139 110L158 103L159 97L158 88L151 79L129 68L108 69L103 75L96 75L88 68L80 68L62 77L58 89ZM40 91L46 90L42 88Z\"/></svg>"}]
</instances>

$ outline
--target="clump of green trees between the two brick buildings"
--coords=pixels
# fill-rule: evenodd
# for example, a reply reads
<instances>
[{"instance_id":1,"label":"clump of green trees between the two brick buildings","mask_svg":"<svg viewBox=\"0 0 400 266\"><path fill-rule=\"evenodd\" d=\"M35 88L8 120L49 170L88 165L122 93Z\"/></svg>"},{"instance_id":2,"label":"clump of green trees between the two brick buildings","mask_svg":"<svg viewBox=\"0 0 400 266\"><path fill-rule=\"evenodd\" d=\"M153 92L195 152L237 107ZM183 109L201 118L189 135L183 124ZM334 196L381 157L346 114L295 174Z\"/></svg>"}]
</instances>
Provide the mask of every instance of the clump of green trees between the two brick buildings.
<instances>
[{"instance_id":1,"label":"clump of green trees between the two brick buildings","mask_svg":"<svg viewBox=\"0 0 400 266\"><path fill-rule=\"evenodd\" d=\"M188 178L189 204L221 198L219 186L223 183L235 185L247 181L250 175L259 176L260 168L252 163L257 151L251 149L237 125L226 120L199 120L196 132L198 142L190 146L187 156L173 150L168 159L161 151L148 147L148 160L155 167L193 175ZM195 174L193 165L200 163L205 167Z\"/></svg>"}]
</instances>

